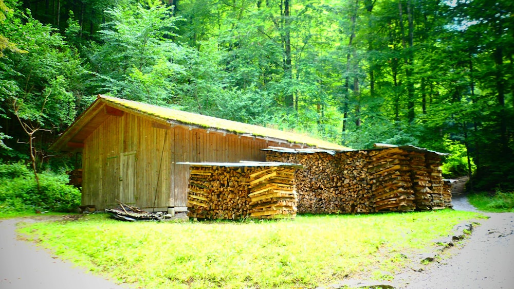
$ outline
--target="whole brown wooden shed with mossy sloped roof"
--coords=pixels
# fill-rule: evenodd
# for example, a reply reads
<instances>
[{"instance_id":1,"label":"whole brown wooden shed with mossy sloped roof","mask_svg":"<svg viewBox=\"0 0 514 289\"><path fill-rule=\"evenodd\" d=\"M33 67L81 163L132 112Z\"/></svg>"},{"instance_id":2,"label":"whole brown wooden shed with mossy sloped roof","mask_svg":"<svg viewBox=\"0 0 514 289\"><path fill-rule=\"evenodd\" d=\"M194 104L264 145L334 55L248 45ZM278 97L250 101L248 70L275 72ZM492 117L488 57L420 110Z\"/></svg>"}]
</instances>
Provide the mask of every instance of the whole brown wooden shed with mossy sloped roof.
<instances>
[{"instance_id":1,"label":"whole brown wooden shed with mossy sloped roof","mask_svg":"<svg viewBox=\"0 0 514 289\"><path fill-rule=\"evenodd\" d=\"M177 162L265 161L268 146L345 147L308 136L99 95L50 149L82 153L82 205L116 200L186 211L189 168Z\"/></svg>"}]
</instances>

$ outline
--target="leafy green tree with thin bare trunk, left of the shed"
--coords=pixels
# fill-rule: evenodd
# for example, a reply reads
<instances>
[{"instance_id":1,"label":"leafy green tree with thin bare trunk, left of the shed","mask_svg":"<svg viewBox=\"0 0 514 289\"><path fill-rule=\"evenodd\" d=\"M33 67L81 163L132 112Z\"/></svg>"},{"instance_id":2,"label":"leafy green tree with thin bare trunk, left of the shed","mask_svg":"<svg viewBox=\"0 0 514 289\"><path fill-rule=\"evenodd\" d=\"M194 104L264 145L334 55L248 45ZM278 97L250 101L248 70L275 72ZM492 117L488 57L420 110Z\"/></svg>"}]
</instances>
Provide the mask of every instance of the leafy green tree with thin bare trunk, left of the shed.
<instances>
[{"instance_id":1,"label":"leafy green tree with thin bare trunk, left of the shed","mask_svg":"<svg viewBox=\"0 0 514 289\"><path fill-rule=\"evenodd\" d=\"M0 29L27 51L7 51L0 58L0 109L4 112L0 121L5 135L13 137L5 144L15 148L3 150L2 155L23 157L20 152L25 151L33 161L41 160L48 141L43 132L62 130L75 119L76 99L71 92L84 70L61 35L30 14L14 8ZM32 146L26 148L14 140L32 142Z\"/></svg>"}]
</instances>

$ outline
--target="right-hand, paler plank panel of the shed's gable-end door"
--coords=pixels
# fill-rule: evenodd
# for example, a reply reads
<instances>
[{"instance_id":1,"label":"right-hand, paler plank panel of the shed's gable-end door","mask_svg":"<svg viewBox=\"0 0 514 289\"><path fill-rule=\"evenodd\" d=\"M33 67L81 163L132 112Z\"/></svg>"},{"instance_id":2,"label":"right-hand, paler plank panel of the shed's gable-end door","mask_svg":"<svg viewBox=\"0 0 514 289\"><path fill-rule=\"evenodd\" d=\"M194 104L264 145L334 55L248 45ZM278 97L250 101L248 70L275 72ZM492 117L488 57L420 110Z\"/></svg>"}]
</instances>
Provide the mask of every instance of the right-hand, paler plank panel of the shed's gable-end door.
<instances>
[{"instance_id":1,"label":"right-hand, paler plank panel of the shed's gable-end door","mask_svg":"<svg viewBox=\"0 0 514 289\"><path fill-rule=\"evenodd\" d=\"M121 154L120 201L127 205L136 203L136 152Z\"/></svg>"}]
</instances>

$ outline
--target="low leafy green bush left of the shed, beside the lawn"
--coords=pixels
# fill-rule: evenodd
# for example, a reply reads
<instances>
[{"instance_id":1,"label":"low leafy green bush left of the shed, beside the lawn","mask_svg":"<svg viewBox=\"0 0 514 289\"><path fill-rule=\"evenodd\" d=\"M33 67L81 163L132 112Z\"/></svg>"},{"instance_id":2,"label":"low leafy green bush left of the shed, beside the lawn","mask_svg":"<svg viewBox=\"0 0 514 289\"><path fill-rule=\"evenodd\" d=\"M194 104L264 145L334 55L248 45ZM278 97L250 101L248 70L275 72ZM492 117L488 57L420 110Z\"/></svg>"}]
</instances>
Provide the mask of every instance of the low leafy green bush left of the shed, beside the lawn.
<instances>
[{"instance_id":1,"label":"low leafy green bush left of the shed, beside the lawn","mask_svg":"<svg viewBox=\"0 0 514 289\"><path fill-rule=\"evenodd\" d=\"M65 212L80 205L80 191L66 185L66 174L40 173L38 190L34 175L20 163L0 164L0 172L0 212L30 209Z\"/></svg>"}]
</instances>

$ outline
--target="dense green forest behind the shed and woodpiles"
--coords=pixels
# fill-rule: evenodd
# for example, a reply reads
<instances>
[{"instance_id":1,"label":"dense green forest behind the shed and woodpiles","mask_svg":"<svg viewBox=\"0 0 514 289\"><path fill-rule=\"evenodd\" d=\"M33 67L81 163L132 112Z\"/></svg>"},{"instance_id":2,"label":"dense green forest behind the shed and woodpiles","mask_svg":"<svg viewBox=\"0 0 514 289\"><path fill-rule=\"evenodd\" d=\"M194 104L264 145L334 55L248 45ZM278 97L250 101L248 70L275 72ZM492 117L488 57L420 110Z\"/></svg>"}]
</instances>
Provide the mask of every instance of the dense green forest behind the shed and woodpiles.
<instances>
[{"instance_id":1,"label":"dense green forest behind the shed and woodpiles","mask_svg":"<svg viewBox=\"0 0 514 289\"><path fill-rule=\"evenodd\" d=\"M98 94L447 152L514 190L511 0L0 0L0 165L69 170L48 146Z\"/></svg>"}]
</instances>

